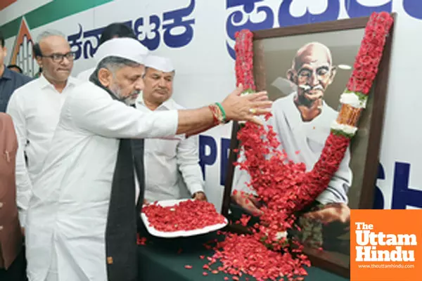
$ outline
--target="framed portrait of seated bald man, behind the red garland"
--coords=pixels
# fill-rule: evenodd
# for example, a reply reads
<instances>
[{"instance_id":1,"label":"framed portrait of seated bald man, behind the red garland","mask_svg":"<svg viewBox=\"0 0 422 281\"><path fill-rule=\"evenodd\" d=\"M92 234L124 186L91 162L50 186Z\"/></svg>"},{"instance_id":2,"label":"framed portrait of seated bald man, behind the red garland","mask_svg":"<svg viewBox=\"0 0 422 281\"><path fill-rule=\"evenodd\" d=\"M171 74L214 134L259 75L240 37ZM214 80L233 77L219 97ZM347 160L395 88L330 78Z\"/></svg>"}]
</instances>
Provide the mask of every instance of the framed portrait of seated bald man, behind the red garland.
<instances>
[{"instance_id":1,"label":"framed portrait of seated bald man, behind the red garland","mask_svg":"<svg viewBox=\"0 0 422 281\"><path fill-rule=\"evenodd\" d=\"M368 20L353 18L253 32L257 91L267 91L274 101L276 115L271 118L276 119L272 124L283 150L290 160L304 163L307 171L319 159L338 116L340 95L352 74ZM392 31L343 162L314 204L298 214L300 231L289 233L305 245L313 266L345 277L350 276L350 209L373 207L391 44ZM318 110L309 110L311 107ZM234 166L238 129L235 122L222 207L222 214L233 219L245 214L231 198L232 189L244 184ZM309 218L305 216L309 212L321 216ZM319 219L322 216L328 223Z\"/></svg>"}]
</instances>

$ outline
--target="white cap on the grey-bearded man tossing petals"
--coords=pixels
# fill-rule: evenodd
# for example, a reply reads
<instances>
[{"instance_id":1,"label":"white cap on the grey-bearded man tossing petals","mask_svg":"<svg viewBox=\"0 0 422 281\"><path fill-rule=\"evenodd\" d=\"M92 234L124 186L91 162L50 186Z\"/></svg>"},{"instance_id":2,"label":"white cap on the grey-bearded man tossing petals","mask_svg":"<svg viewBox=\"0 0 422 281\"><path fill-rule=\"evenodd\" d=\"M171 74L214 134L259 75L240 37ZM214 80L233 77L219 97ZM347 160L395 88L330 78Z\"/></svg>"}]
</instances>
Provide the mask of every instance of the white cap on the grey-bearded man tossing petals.
<instances>
[{"instance_id":1,"label":"white cap on the grey-bearded man tossing petals","mask_svg":"<svg viewBox=\"0 0 422 281\"><path fill-rule=\"evenodd\" d=\"M133 38L113 38L105 41L94 56L96 63L100 63L104 58L115 56L118 58L126 58L135 63L143 65L148 55L148 48L143 46L141 42Z\"/></svg>"}]
</instances>

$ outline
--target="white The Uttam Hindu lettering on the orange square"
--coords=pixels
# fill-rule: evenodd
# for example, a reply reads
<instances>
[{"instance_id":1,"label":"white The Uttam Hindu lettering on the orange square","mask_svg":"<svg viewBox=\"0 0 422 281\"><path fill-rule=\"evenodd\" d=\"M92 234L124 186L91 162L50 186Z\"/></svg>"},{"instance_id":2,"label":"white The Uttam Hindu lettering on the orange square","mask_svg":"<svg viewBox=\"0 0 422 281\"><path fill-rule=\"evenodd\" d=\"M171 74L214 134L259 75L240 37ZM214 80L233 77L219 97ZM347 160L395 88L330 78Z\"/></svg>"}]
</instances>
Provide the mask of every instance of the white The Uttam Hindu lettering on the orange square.
<instances>
[{"instance_id":1,"label":"white The Uttam Hindu lettering on the orange square","mask_svg":"<svg viewBox=\"0 0 422 281\"><path fill-rule=\"evenodd\" d=\"M376 233L371 223L357 222L356 261L415 261L415 251L402 249L402 246L416 246L414 234ZM379 249L382 246L395 246L394 250Z\"/></svg>"}]
</instances>

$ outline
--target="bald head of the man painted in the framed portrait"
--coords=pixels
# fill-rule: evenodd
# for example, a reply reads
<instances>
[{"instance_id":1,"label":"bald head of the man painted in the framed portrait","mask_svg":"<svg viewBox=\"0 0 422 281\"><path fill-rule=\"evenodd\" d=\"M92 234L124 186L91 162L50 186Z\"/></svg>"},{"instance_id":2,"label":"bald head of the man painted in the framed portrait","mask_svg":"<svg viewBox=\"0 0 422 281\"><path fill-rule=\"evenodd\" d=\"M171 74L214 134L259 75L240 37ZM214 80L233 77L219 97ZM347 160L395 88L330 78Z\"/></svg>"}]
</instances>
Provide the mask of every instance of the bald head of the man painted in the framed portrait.
<instances>
[{"instance_id":1,"label":"bald head of the man painted in the framed portrait","mask_svg":"<svg viewBox=\"0 0 422 281\"><path fill-rule=\"evenodd\" d=\"M324 91L333 82L335 71L330 49L312 42L298 50L287 78L298 85L298 96L312 103L323 98Z\"/></svg>"}]
</instances>

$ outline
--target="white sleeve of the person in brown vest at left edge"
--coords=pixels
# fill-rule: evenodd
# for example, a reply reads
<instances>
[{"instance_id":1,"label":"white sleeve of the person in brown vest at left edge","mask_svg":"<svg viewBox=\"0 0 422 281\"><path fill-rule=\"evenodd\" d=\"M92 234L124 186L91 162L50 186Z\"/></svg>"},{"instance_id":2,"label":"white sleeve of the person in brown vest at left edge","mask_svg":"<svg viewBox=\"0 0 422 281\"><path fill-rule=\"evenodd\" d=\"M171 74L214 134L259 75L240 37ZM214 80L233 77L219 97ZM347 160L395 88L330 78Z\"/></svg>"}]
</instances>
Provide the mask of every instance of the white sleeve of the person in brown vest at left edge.
<instances>
[{"instance_id":1,"label":"white sleeve of the person in brown vest at left edge","mask_svg":"<svg viewBox=\"0 0 422 281\"><path fill-rule=\"evenodd\" d=\"M16 204L18 205L19 221L25 227L27 208L32 195L32 183L25 163L25 146L27 143L27 129L23 100L20 95L13 93L9 100L6 112L11 115L18 137L18 152L16 153Z\"/></svg>"}]
</instances>

